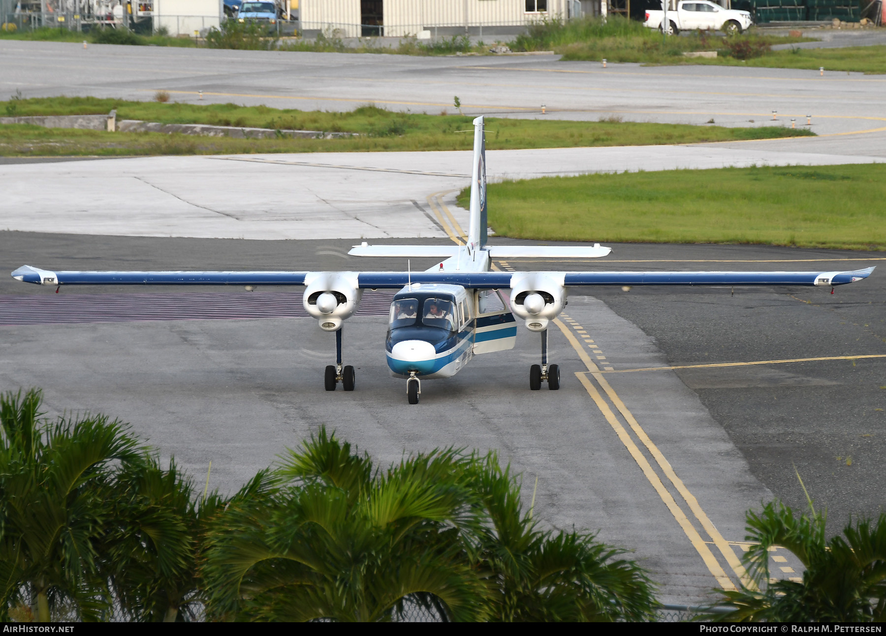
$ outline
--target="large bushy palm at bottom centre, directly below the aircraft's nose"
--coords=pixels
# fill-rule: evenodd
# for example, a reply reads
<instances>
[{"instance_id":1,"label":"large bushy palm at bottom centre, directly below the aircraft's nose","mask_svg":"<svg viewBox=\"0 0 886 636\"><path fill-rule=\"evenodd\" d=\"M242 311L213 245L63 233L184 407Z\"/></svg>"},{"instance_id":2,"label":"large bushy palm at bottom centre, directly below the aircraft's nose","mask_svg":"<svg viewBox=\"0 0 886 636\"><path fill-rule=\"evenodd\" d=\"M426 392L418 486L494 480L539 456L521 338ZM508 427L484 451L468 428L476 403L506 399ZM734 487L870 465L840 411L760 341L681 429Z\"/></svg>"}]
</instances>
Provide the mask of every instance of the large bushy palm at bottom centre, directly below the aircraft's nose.
<instances>
[{"instance_id":1,"label":"large bushy palm at bottom centre, directly below the aircraft's nose","mask_svg":"<svg viewBox=\"0 0 886 636\"><path fill-rule=\"evenodd\" d=\"M237 493L210 531L207 614L237 620L390 620L408 602L483 620L488 586L470 558L478 498L455 452L385 474L320 430ZM433 601L431 601L433 599Z\"/></svg>"}]
</instances>

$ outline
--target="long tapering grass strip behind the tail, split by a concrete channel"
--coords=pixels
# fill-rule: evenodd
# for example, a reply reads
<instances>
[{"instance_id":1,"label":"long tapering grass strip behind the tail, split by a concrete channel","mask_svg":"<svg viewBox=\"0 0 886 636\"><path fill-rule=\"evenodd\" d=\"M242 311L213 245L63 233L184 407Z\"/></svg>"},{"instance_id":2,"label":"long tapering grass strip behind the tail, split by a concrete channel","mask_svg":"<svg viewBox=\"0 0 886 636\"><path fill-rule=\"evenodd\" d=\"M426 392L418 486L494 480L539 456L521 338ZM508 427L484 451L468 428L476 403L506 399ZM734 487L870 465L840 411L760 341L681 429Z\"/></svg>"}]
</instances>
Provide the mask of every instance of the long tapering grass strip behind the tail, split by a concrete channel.
<instances>
[{"instance_id":1,"label":"long tapering grass strip behind the tail, split by a concrete channel","mask_svg":"<svg viewBox=\"0 0 886 636\"><path fill-rule=\"evenodd\" d=\"M203 123L326 132L355 132L347 139L235 139L160 133L108 133L98 130L39 128L27 124L0 126L0 155L158 155L318 151L450 151L470 150L470 117L391 112L361 106L350 112L297 111L235 104L193 105L133 102L95 97L13 98L0 102L8 116L101 114L117 110L118 120ZM568 148L576 146L660 145L773 137L811 136L786 127L724 128L602 121L489 118L491 150ZM469 131L469 132L465 132Z\"/></svg>"}]
</instances>

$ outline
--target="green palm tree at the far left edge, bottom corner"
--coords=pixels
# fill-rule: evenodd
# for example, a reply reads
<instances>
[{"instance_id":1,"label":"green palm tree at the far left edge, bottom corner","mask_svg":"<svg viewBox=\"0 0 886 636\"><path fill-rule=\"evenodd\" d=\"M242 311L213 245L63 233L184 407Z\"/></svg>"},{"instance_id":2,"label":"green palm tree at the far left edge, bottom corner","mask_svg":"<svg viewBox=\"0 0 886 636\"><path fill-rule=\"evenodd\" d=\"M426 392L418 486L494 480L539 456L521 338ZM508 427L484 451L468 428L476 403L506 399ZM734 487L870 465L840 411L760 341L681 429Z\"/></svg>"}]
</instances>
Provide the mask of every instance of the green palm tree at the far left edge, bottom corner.
<instances>
[{"instance_id":1,"label":"green palm tree at the far left edge, bottom corner","mask_svg":"<svg viewBox=\"0 0 886 636\"><path fill-rule=\"evenodd\" d=\"M62 610L96 619L107 604L96 550L106 494L115 466L144 448L104 415L41 420L41 400L35 389L0 395L0 619L26 596L41 622Z\"/></svg>"}]
</instances>

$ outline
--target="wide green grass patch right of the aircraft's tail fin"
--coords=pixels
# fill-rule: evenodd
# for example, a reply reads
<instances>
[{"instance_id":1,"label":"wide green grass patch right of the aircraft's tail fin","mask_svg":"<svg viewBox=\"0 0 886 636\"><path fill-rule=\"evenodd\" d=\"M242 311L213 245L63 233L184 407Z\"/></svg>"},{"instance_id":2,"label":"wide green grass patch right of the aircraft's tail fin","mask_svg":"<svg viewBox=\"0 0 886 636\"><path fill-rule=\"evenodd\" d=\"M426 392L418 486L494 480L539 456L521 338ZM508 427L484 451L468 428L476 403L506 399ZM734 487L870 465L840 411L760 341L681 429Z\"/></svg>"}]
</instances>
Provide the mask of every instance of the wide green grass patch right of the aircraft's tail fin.
<instances>
[{"instance_id":1,"label":"wide green grass patch right of the aircraft's tail fin","mask_svg":"<svg viewBox=\"0 0 886 636\"><path fill-rule=\"evenodd\" d=\"M503 237L886 249L886 164L545 177L486 194Z\"/></svg>"}]
</instances>

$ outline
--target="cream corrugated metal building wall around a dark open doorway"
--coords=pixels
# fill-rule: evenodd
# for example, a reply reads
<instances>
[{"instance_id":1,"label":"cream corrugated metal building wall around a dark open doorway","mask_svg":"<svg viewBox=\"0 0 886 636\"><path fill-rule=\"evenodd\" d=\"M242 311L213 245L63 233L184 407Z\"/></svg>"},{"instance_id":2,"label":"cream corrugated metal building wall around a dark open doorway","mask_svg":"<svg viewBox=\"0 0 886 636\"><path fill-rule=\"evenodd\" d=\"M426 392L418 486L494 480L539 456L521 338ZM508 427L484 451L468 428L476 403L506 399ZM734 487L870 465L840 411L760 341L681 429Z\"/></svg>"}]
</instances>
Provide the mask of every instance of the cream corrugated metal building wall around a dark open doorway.
<instances>
[{"instance_id":1,"label":"cream corrugated metal building wall around a dark open doorway","mask_svg":"<svg viewBox=\"0 0 886 636\"><path fill-rule=\"evenodd\" d=\"M416 35L433 27L517 27L546 16L565 16L565 0L548 0L548 12L526 13L525 0L384 0L385 35ZM341 29L360 35L360 0L301 0L303 29ZM324 27L323 25L326 25Z\"/></svg>"}]
</instances>

